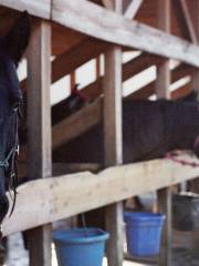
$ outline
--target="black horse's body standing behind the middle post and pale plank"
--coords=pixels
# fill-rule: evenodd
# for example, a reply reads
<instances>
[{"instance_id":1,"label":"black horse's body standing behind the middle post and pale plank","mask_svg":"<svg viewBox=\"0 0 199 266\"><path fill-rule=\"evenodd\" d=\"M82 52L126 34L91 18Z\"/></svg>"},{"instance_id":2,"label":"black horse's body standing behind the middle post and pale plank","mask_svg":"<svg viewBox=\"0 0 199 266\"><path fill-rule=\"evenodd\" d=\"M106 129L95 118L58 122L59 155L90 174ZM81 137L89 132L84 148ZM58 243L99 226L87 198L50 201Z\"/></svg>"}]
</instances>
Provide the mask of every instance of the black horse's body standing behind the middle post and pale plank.
<instances>
[{"instance_id":1,"label":"black horse's body standing behind the middle post and pale plank","mask_svg":"<svg viewBox=\"0 0 199 266\"><path fill-rule=\"evenodd\" d=\"M124 163L164 157L172 150L199 156L199 104L196 93L185 99L123 101ZM104 164L103 121L67 143L54 160Z\"/></svg>"}]
</instances>

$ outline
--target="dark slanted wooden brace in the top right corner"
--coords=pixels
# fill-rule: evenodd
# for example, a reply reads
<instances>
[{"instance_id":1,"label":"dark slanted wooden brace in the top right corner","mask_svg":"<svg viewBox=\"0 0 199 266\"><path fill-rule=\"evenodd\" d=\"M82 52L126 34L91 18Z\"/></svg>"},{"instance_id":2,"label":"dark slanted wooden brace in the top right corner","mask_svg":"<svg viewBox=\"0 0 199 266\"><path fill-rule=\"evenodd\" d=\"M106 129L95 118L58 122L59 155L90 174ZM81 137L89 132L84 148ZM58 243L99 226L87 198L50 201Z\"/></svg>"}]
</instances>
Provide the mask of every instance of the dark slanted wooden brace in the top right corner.
<instances>
[{"instance_id":1,"label":"dark slanted wooden brace in the top right corner","mask_svg":"<svg viewBox=\"0 0 199 266\"><path fill-rule=\"evenodd\" d=\"M192 43L198 43L198 38L195 32L195 25L191 20L191 14L187 6L186 0L174 0L171 1L174 4L174 10L178 20L179 28L181 30L182 35L191 41Z\"/></svg>"}]
</instances>

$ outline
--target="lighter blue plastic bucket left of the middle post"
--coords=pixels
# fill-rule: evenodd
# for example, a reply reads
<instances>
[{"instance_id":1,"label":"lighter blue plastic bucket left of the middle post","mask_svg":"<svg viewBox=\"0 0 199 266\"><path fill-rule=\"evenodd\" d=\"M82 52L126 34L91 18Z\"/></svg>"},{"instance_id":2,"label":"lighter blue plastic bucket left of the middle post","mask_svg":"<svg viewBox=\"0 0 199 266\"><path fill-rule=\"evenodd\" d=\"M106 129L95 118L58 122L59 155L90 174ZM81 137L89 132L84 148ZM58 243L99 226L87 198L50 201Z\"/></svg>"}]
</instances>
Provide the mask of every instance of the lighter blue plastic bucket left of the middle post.
<instances>
[{"instance_id":1,"label":"lighter blue plastic bucket left of the middle post","mask_svg":"<svg viewBox=\"0 0 199 266\"><path fill-rule=\"evenodd\" d=\"M100 228L76 228L53 233L59 266L102 266L109 234Z\"/></svg>"}]
</instances>

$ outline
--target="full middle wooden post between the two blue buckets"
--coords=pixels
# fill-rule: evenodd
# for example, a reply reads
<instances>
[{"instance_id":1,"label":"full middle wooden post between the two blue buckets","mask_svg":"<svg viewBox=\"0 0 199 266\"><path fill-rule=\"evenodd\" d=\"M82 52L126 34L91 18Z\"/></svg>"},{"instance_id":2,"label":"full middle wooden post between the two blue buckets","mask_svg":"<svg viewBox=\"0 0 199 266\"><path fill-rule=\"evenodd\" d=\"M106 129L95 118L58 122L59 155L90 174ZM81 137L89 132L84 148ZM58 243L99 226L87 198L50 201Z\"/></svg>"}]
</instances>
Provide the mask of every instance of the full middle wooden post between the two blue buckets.
<instances>
[{"instance_id":1,"label":"full middle wooden post between the two blue buckets","mask_svg":"<svg viewBox=\"0 0 199 266\"><path fill-rule=\"evenodd\" d=\"M115 11L122 12L122 0L114 0ZM105 53L104 78L104 134L105 164L123 163L122 136L122 49L112 47ZM106 228L111 233L107 243L109 266L123 265L123 203L106 207Z\"/></svg>"}]
</instances>

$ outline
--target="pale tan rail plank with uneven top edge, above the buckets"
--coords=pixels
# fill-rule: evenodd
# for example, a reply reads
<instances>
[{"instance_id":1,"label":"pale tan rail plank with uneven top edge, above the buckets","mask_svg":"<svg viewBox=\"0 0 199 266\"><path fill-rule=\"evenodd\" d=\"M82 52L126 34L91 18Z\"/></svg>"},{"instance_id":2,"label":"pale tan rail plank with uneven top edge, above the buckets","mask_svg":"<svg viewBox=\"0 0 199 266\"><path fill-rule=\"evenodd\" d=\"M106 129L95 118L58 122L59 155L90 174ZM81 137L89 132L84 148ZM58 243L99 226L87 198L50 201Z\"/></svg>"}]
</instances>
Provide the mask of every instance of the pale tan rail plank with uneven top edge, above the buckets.
<instances>
[{"instance_id":1,"label":"pale tan rail plank with uneven top edge, above the buckets","mask_svg":"<svg viewBox=\"0 0 199 266\"><path fill-rule=\"evenodd\" d=\"M193 160L189 155L179 158ZM198 167L182 166L165 158L114 166L97 175L82 172L31 181L19 186L13 215L3 222L3 234L40 226L195 177L198 177Z\"/></svg>"}]
</instances>

